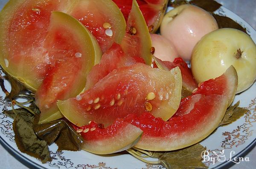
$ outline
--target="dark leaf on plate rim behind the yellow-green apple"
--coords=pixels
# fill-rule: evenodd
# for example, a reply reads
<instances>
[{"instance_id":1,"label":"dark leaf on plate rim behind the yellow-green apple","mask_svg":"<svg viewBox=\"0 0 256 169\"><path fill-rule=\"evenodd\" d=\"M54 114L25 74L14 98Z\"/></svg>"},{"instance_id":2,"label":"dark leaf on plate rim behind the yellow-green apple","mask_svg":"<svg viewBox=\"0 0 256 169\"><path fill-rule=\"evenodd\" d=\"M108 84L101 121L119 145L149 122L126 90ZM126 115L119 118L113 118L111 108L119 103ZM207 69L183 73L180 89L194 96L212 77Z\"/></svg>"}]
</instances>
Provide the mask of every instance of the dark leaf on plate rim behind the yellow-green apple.
<instances>
[{"instance_id":1,"label":"dark leaf on plate rim behind the yellow-green apple","mask_svg":"<svg viewBox=\"0 0 256 169\"><path fill-rule=\"evenodd\" d=\"M239 25L239 23L236 23L236 21L230 19L229 17L220 16L217 14L212 14L212 16L217 21L219 28L235 28L247 34L246 28L243 28L241 25Z\"/></svg>"}]
</instances>

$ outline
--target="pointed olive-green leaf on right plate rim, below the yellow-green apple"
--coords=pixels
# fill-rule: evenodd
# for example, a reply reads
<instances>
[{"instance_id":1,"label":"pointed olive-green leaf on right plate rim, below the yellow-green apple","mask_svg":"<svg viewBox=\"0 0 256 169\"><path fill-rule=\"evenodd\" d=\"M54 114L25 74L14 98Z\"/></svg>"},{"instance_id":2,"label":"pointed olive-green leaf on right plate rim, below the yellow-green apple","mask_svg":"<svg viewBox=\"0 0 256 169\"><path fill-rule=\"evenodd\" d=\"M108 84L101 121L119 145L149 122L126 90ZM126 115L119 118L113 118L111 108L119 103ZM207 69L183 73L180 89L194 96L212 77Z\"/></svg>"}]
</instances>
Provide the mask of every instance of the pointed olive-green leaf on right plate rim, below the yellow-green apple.
<instances>
[{"instance_id":1,"label":"pointed olive-green leaf on right plate rim, below the yellow-green apple","mask_svg":"<svg viewBox=\"0 0 256 169\"><path fill-rule=\"evenodd\" d=\"M230 106L227 109L219 126L231 124L234 121L236 121L237 119L239 119L241 116L243 116L245 113L247 113L248 110L238 107L239 103L240 103L240 101L238 101L236 104L234 104L233 106Z\"/></svg>"}]
</instances>

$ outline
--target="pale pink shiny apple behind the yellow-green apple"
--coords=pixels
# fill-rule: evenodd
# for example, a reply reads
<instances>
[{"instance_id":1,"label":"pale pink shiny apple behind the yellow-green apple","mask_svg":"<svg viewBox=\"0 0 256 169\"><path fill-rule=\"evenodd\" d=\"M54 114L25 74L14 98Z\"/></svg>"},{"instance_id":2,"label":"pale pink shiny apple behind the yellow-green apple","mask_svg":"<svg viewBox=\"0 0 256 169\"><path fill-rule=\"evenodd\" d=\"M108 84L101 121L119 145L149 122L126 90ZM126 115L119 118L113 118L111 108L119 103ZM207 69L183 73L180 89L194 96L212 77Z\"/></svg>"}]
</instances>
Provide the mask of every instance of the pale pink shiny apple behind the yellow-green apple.
<instances>
[{"instance_id":1,"label":"pale pink shiny apple behind the yellow-green apple","mask_svg":"<svg viewBox=\"0 0 256 169\"><path fill-rule=\"evenodd\" d=\"M211 14L186 4L172 9L164 16L160 34L172 42L183 60L189 61L195 44L205 34L216 29L218 24Z\"/></svg>"}]
</instances>

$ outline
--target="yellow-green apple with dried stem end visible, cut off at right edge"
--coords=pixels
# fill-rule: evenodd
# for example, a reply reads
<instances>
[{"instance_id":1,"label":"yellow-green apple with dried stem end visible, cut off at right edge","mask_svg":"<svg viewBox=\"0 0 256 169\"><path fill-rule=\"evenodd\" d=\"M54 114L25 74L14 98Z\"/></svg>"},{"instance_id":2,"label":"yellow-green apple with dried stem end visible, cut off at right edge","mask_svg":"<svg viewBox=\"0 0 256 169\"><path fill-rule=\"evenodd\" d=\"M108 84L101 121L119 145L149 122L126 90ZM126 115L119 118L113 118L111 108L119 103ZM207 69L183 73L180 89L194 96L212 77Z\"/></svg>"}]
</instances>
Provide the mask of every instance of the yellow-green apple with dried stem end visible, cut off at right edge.
<instances>
[{"instance_id":1,"label":"yellow-green apple with dried stem end visible, cut off at right edge","mask_svg":"<svg viewBox=\"0 0 256 169\"><path fill-rule=\"evenodd\" d=\"M242 31L221 28L205 35L192 52L191 68L200 83L220 76L233 65L238 75L236 93L250 87L256 79L256 45Z\"/></svg>"}]
</instances>

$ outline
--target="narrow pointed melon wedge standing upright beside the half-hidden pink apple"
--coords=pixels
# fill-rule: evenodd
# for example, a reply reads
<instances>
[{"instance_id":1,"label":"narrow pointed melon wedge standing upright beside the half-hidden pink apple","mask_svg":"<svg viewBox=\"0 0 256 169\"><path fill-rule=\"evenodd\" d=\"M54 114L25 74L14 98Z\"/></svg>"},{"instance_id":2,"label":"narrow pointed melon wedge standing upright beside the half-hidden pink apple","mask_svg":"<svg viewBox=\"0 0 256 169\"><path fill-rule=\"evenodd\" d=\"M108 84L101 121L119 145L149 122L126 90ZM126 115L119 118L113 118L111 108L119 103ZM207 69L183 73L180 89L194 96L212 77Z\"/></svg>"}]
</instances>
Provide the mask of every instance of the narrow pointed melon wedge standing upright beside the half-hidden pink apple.
<instances>
[{"instance_id":1,"label":"narrow pointed melon wedge standing upright beside the half-hidden pink apple","mask_svg":"<svg viewBox=\"0 0 256 169\"><path fill-rule=\"evenodd\" d=\"M142 12L136 0L133 0L129 13L126 34L121 42L122 50L128 56L142 57L147 65L152 64L150 53L152 42ZM132 48L131 48L132 47Z\"/></svg>"}]
</instances>

